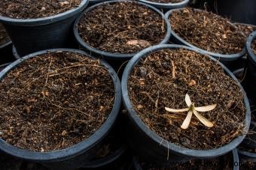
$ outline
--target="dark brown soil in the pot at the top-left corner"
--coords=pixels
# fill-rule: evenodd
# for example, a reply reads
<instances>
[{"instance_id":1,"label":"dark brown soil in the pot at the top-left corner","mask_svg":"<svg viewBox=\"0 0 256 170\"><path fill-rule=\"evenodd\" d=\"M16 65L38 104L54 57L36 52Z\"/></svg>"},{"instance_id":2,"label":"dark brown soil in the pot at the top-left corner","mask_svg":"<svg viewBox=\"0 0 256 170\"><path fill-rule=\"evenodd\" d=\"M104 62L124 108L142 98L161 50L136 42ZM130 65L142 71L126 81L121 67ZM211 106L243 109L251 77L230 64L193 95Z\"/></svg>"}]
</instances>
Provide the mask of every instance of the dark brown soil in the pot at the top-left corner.
<instances>
[{"instance_id":1,"label":"dark brown soil in the pot at the top-left corner","mask_svg":"<svg viewBox=\"0 0 256 170\"><path fill-rule=\"evenodd\" d=\"M80 3L81 0L1 0L0 16L36 19L66 12Z\"/></svg>"}]
</instances>

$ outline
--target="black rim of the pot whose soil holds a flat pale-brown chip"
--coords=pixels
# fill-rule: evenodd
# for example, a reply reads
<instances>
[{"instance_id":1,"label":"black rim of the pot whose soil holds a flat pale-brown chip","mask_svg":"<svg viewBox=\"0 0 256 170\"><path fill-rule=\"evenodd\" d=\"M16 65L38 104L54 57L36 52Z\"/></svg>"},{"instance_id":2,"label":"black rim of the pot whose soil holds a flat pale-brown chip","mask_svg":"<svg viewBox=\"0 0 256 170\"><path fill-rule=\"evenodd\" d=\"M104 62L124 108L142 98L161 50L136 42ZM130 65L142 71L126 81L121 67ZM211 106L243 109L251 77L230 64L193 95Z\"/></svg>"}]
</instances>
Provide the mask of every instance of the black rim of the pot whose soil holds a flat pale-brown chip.
<instances>
[{"instance_id":1,"label":"black rim of the pot whose soil holds a flat pale-brown chip","mask_svg":"<svg viewBox=\"0 0 256 170\"><path fill-rule=\"evenodd\" d=\"M134 2L134 3L137 3L137 4L142 4L146 7L149 7L151 10L154 10L155 12L159 13L160 16L163 16L163 19L164 21L166 22L166 36L163 38L163 40L159 43L159 44L164 44L164 43L168 43L168 40L169 40L169 37L171 36L170 34L170 24L168 22L168 19L166 18L166 16L160 12L160 10L157 10L156 7L152 7L151 5L149 4L145 4L145 3L142 3L142 2L139 2L139 1L129 1L129 0L114 0L114 1L103 1L99 4L95 4L89 8L87 8L86 10L84 10L83 13L81 13L80 16L78 16L78 18L75 20L75 24L74 24L74 34L75 34L75 39L78 41L78 43L83 46L84 49L87 49L89 50L90 52L94 52L96 53L97 55L99 56L105 56L106 58L110 58L110 59L114 59L114 60L117 60L117 59L120 59L122 58L123 60L125 59L130 59L132 58L134 55L136 55L136 53L130 53L130 54L121 54L121 53L111 53L111 52L105 52L105 51L102 51L102 50L99 50L99 49L96 49L92 46L89 46L87 43L84 42L84 40L80 37L79 35L79 31L78 31L78 23L80 22L81 18L84 16L84 13L90 11L90 10L93 10L95 7L98 7L102 4L110 4L110 3L117 3L117 2Z\"/></svg>"}]
</instances>

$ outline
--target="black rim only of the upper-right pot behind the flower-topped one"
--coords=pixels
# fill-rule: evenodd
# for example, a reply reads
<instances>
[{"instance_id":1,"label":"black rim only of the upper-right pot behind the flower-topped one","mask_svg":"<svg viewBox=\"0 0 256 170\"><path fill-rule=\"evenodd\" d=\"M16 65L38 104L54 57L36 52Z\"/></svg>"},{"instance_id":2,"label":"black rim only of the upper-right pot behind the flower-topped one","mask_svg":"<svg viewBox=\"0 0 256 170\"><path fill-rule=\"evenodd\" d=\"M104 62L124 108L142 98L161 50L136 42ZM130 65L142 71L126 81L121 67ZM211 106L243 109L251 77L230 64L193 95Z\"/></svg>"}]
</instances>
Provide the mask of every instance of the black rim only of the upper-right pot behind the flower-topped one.
<instances>
[{"instance_id":1,"label":"black rim only of the upper-right pot behind the flower-topped one","mask_svg":"<svg viewBox=\"0 0 256 170\"><path fill-rule=\"evenodd\" d=\"M172 9L172 10L169 10L168 12L166 12L165 15L166 15L166 18L168 19L168 22L169 22L169 15L173 11L175 11L175 10L182 10L182 9L184 9L184 7L178 8L178 9ZM194 9L194 10L204 11L204 10L199 10L199 9ZM230 22L230 24L232 24L232 23ZM246 49L245 48L243 48L241 52L236 53L236 54L221 54L221 53L216 53L216 52L208 52L205 49L200 49L199 47L194 46L191 43L189 43L186 40L184 40L183 38L179 37L178 34L176 34L175 31L172 30L172 25L171 24L170 24L170 32L171 32L171 36L173 36L176 39L178 39L185 46L190 46L191 48L200 50L201 52L206 53L207 55L211 55L212 57L214 57L214 58L216 58L216 59L218 59L220 61L234 61L234 60L236 60L238 58L242 58L242 56L245 55L245 53L246 53Z\"/></svg>"}]
</instances>

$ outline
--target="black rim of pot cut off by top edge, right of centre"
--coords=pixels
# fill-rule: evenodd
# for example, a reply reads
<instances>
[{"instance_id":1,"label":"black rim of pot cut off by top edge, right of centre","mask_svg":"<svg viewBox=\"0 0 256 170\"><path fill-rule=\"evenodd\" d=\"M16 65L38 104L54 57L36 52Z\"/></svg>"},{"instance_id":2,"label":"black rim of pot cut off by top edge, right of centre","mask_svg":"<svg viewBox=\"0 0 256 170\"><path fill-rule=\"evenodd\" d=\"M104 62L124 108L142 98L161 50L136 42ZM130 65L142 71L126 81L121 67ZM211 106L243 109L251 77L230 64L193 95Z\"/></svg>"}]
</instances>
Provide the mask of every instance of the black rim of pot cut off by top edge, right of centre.
<instances>
[{"instance_id":1,"label":"black rim of pot cut off by top edge, right of centre","mask_svg":"<svg viewBox=\"0 0 256 170\"><path fill-rule=\"evenodd\" d=\"M139 0L139 1L142 1L144 3L147 3L147 4L151 4L153 5L154 7L162 7L162 8L165 8L165 9L172 9L172 8L178 8L178 7L184 7L186 6L190 0L183 0L181 2L176 2L176 3L160 3L160 2L154 2L154 1L147 1L147 0Z\"/></svg>"}]
</instances>

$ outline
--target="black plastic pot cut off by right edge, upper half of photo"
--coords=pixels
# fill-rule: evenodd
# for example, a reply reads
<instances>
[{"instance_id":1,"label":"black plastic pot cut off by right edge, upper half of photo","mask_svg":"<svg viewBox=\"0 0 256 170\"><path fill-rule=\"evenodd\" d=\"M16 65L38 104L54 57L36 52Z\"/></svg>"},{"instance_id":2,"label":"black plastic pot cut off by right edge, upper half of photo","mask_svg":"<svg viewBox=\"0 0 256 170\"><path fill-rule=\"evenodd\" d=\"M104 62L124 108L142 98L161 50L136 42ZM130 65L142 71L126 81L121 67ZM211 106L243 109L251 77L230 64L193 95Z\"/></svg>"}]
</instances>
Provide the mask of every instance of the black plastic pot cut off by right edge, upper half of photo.
<instances>
[{"instance_id":1,"label":"black plastic pot cut off by right edge, upper half of photo","mask_svg":"<svg viewBox=\"0 0 256 170\"><path fill-rule=\"evenodd\" d=\"M246 40L247 62L245 65L245 91L252 104L256 106L256 55L251 49L251 43L256 40L256 31L252 32Z\"/></svg>"}]
</instances>

